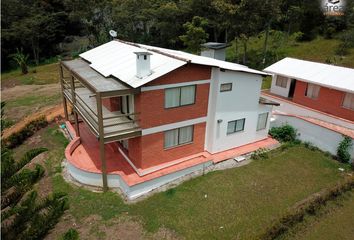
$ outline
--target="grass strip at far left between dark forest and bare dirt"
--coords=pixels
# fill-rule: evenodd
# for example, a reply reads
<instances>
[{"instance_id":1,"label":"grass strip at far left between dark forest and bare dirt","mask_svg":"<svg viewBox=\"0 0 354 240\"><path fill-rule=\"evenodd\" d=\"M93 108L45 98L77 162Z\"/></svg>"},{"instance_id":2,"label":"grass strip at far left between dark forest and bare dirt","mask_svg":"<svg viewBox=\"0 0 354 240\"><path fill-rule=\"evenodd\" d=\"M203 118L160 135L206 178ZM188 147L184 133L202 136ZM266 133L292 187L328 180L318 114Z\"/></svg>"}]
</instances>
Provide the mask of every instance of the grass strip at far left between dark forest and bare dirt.
<instances>
[{"instance_id":1,"label":"grass strip at far left between dark forest and bare dirt","mask_svg":"<svg viewBox=\"0 0 354 240\"><path fill-rule=\"evenodd\" d=\"M51 63L46 65L40 65L36 67L30 67L29 73L23 75L20 71L14 70L8 73L1 74L2 84L8 81L19 81L22 85L31 84L50 84L59 82L59 70L57 63Z\"/></svg>"}]
</instances>

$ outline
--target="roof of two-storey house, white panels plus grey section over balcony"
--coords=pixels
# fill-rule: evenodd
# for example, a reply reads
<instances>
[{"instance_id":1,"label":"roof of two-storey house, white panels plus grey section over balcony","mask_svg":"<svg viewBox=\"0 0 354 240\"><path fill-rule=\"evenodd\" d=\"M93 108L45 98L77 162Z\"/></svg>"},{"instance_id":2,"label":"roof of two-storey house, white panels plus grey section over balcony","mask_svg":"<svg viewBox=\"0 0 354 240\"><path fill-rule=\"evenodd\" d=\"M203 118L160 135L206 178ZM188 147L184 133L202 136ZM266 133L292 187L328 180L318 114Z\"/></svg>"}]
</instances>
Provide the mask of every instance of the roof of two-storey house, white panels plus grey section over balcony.
<instances>
[{"instance_id":1,"label":"roof of two-storey house, white panels plus grey section over balcony","mask_svg":"<svg viewBox=\"0 0 354 240\"><path fill-rule=\"evenodd\" d=\"M142 51L151 54L151 74L138 78L135 53ZM86 80L98 92L138 89L188 63L268 75L240 64L121 40L113 40L98 46L80 54L80 57L81 59L65 61L63 64Z\"/></svg>"}]
</instances>

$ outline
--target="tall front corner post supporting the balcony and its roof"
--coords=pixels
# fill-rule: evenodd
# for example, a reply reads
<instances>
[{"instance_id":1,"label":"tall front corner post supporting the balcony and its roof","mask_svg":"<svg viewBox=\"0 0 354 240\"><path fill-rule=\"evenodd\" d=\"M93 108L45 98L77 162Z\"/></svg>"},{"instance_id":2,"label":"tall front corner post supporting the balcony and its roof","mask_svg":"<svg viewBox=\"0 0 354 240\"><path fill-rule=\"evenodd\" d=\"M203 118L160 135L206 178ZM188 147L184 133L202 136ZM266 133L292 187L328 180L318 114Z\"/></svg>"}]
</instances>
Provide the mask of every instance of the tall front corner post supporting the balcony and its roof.
<instances>
[{"instance_id":1,"label":"tall front corner post supporting the balcony and its roof","mask_svg":"<svg viewBox=\"0 0 354 240\"><path fill-rule=\"evenodd\" d=\"M105 156L105 148L104 148L102 98L100 92L96 93L96 102L97 102L98 132L99 132L99 141L100 141L100 158L102 162L101 170L102 170L103 191L107 191L108 190L107 168L106 168L106 156Z\"/></svg>"}]
</instances>

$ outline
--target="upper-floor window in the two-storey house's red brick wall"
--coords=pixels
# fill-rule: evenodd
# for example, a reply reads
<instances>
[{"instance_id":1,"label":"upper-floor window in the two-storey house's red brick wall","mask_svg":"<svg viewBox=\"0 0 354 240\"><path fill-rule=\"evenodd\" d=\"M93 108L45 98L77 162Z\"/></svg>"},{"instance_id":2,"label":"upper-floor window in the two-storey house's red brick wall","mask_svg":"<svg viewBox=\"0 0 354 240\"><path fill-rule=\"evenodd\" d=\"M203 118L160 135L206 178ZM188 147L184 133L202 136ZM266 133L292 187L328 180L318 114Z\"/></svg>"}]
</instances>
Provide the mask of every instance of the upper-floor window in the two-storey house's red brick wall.
<instances>
[{"instance_id":1,"label":"upper-floor window in the two-storey house's red brick wall","mask_svg":"<svg viewBox=\"0 0 354 240\"><path fill-rule=\"evenodd\" d=\"M195 85L165 90L165 108L190 105L195 102Z\"/></svg>"}]
</instances>

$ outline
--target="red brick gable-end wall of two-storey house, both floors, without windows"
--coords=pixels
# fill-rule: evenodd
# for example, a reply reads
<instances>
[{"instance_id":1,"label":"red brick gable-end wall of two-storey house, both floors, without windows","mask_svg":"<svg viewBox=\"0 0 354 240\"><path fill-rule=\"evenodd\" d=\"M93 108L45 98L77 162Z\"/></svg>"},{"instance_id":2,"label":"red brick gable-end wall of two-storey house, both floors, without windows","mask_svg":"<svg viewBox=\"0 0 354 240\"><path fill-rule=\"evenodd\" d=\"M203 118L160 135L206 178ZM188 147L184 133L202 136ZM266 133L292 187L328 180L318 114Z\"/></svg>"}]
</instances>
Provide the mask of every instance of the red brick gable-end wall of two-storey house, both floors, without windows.
<instances>
[{"instance_id":1,"label":"red brick gable-end wall of two-storey house, both floors, without windows","mask_svg":"<svg viewBox=\"0 0 354 240\"><path fill-rule=\"evenodd\" d=\"M189 81L207 80L211 68L188 64L145 86L156 86ZM141 128L204 117L208 111L209 83L196 85L193 105L165 109L165 91L152 90L135 95L135 112L139 112ZM205 123L194 125L193 143L164 149L164 133L149 134L129 140L129 158L138 168L148 168L204 151Z\"/></svg>"}]
</instances>

